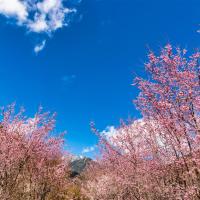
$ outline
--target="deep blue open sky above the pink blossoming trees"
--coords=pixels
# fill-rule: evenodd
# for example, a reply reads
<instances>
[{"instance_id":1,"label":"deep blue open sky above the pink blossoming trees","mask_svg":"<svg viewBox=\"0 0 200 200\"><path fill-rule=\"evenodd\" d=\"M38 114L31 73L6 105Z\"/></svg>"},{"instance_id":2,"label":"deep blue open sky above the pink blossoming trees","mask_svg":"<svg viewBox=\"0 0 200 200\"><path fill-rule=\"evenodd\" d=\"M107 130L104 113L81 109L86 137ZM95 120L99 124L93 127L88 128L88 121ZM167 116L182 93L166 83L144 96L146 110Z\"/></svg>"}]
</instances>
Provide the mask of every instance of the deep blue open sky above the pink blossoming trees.
<instances>
[{"instance_id":1,"label":"deep blue open sky above the pink blossoming trees","mask_svg":"<svg viewBox=\"0 0 200 200\"><path fill-rule=\"evenodd\" d=\"M97 141L91 121L104 130L140 117L131 83L135 74L145 76L148 48L158 52L168 42L189 51L199 47L200 1L73 0L70 6L76 13L69 26L49 25L48 33L17 25L0 7L0 105L15 101L30 116L39 105L57 112L67 148L81 154Z\"/></svg>"}]
</instances>

